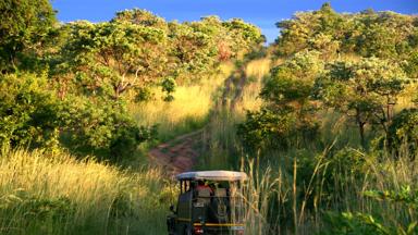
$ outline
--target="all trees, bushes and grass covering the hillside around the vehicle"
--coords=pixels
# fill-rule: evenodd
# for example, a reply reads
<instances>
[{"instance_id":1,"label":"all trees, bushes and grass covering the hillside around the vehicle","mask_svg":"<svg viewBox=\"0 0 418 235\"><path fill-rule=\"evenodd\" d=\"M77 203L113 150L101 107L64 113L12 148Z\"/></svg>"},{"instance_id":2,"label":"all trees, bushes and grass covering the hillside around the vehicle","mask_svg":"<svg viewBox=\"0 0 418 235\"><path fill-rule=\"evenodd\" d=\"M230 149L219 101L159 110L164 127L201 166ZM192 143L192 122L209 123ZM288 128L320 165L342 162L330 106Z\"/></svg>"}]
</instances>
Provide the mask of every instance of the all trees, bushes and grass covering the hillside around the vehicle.
<instances>
[{"instance_id":1,"label":"all trees, bushes and grass covering the hillside around the vehicle","mask_svg":"<svg viewBox=\"0 0 418 235\"><path fill-rule=\"evenodd\" d=\"M418 234L418 18L58 23L0 3L0 234L164 234L148 162L202 129L195 169L242 170L248 234Z\"/></svg>"}]
</instances>

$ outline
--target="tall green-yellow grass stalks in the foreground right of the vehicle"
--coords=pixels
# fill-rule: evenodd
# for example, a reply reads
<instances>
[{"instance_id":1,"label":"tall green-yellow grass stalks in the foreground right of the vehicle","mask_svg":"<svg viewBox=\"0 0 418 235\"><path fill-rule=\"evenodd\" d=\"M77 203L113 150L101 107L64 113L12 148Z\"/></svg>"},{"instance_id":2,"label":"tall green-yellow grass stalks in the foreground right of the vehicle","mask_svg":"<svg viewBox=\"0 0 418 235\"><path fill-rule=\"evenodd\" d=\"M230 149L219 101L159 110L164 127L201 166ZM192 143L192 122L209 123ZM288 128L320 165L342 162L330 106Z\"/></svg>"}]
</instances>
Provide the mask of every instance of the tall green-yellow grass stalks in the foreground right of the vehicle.
<instances>
[{"instance_id":1,"label":"tall green-yellow grass stalks in the foreground right of the vehicle","mask_svg":"<svg viewBox=\"0 0 418 235\"><path fill-rule=\"evenodd\" d=\"M243 195L249 234L333 234L335 226L345 224L330 223L329 213L342 212L370 214L382 226L399 233L417 221L413 205L367 197L370 190L401 194L406 186L414 191L418 187L417 158L382 159L357 151L365 161L359 170L355 163L336 166L335 159L327 154L318 154L309 172L304 172L300 159L287 165L282 161L281 165L259 166L257 160L243 164L249 174Z\"/></svg>"}]
</instances>

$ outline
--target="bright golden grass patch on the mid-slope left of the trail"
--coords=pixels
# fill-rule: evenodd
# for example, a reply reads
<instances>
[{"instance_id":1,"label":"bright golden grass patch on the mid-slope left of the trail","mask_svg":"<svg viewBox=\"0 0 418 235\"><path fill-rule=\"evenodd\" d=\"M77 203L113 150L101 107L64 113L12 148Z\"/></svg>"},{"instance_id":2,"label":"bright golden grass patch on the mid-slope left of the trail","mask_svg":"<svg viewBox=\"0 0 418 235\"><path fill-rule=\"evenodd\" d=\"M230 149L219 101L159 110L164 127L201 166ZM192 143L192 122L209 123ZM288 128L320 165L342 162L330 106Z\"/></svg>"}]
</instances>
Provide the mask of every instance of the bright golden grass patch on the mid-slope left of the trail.
<instances>
[{"instance_id":1,"label":"bright golden grass patch on the mid-slope left of the trail","mask_svg":"<svg viewBox=\"0 0 418 235\"><path fill-rule=\"evenodd\" d=\"M202 126L207 120L213 108L214 96L232 70L232 64L222 64L221 73L217 75L202 78L198 84L177 86L171 102L163 101L163 94L155 88L156 99L139 104L131 103L130 112L139 125L158 124L161 140L190 132Z\"/></svg>"}]
</instances>

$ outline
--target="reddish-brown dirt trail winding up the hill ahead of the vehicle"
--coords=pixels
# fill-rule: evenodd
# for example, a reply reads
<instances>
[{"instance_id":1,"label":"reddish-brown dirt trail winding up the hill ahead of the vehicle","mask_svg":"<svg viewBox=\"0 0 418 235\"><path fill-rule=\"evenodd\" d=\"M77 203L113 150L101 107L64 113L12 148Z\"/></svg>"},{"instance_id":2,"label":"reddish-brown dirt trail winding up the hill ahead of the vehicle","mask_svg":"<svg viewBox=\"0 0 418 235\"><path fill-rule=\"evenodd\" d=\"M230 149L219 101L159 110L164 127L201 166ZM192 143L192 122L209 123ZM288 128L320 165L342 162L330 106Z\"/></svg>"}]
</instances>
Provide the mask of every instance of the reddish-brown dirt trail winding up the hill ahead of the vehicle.
<instances>
[{"instance_id":1,"label":"reddish-brown dirt trail winding up the hill ahead of the vehicle","mask_svg":"<svg viewBox=\"0 0 418 235\"><path fill-rule=\"evenodd\" d=\"M242 90L245 83L245 72L243 67L239 67L225 79L222 96L216 100L214 111L217 112L225 107L233 110L235 104L242 99ZM211 115L216 115L216 112L212 112ZM177 136L168 143L152 148L148 152L150 162L162 168L172 177L179 173L193 170L202 151L202 146L206 144L204 141L207 141L207 137L204 135L208 131L208 126L206 125L195 132Z\"/></svg>"}]
</instances>

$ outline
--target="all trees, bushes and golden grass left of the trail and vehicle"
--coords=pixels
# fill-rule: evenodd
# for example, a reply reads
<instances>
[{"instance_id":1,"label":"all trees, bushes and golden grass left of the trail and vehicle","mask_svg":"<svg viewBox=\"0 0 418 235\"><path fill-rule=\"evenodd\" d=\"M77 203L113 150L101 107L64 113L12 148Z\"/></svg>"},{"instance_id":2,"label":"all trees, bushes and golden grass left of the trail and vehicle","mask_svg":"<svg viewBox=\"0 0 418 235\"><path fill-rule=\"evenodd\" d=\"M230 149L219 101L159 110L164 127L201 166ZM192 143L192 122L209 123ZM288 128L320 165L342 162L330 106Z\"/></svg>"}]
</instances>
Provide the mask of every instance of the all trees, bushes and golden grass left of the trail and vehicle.
<instances>
[{"instance_id":1,"label":"all trees, bushes and golden grass left of the trail and vehicle","mask_svg":"<svg viewBox=\"0 0 418 235\"><path fill-rule=\"evenodd\" d=\"M259 28L139 9L59 23L44 0L0 11L0 233L163 234L175 187L143 154L207 122Z\"/></svg>"}]
</instances>

